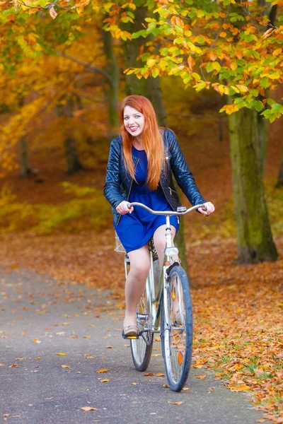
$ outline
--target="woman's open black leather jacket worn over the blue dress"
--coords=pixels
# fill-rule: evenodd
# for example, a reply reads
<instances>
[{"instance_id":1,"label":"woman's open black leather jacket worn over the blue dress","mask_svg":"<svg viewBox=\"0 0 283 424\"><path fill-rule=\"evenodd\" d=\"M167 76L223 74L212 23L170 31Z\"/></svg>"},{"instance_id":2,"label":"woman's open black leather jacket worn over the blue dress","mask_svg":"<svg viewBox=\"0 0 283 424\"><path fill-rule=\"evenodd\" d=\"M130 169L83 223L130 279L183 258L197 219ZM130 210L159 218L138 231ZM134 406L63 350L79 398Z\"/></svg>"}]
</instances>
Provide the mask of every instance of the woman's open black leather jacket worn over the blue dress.
<instances>
[{"instance_id":1,"label":"woman's open black leather jacket worn over the blue dress","mask_svg":"<svg viewBox=\"0 0 283 424\"><path fill-rule=\"evenodd\" d=\"M178 186L187 196L192 206L204 203L205 200L195 184L195 179L187 166L175 134L170 129L165 129L162 132L162 137L165 147L166 165L163 166L161 171L160 184L168 204L170 204L173 211L176 211L177 207L180 206L180 199L173 184L172 172ZM135 167L137 167L139 159L134 155L132 155L132 158ZM120 220L120 213L117 213L116 208L121 201L129 199L132 182L133 179L129 175L129 171L125 169L122 137L117 136L110 145L104 186L104 195L112 206L115 225Z\"/></svg>"}]
</instances>

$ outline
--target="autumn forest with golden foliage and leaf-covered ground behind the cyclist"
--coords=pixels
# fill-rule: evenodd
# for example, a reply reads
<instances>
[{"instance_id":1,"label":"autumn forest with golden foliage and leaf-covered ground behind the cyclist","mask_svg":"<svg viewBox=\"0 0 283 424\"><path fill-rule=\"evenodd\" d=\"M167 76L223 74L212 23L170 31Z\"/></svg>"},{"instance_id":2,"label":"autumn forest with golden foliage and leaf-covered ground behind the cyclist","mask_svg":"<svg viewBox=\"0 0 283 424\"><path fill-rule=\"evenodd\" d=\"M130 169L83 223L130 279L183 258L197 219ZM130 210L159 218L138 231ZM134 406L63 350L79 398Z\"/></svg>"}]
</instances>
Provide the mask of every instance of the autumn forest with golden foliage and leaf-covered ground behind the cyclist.
<instances>
[{"instance_id":1,"label":"autumn forest with golden foliage and leaf-covered ground behind the cyclist","mask_svg":"<svg viewBox=\"0 0 283 424\"><path fill-rule=\"evenodd\" d=\"M113 252L103 184L119 102L146 95L216 206L205 220L191 214L178 240L195 305L194 366L250 392L277 423L281 8L264 0L0 1L1 263L111 288L123 307L123 255Z\"/></svg>"}]
</instances>

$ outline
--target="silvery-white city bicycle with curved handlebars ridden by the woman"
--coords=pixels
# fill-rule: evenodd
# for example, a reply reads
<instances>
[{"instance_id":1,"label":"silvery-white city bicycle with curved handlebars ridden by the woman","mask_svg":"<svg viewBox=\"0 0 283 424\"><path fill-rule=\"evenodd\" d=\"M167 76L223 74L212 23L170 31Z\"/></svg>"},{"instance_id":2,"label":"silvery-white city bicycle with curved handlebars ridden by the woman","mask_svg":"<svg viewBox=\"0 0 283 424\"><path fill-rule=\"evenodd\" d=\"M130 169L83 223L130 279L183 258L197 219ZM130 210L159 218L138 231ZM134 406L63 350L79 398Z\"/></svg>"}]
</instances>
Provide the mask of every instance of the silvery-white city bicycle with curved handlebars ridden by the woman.
<instances>
[{"instance_id":1,"label":"silvery-white city bicycle with curved handlebars ridden by the woman","mask_svg":"<svg viewBox=\"0 0 283 424\"><path fill-rule=\"evenodd\" d=\"M154 247L149 245L151 265L144 295L141 296L137 306L139 332L135 337L127 337L130 340L132 360L138 371L145 371L151 359L153 334L160 332L169 387L173 391L180 391L187 381L192 362L192 301L187 275L178 259L178 248L173 245L170 216L185 215L197 208L206 210L206 206L200 204L188 209L179 206L176 212L153 211L138 202L128 205L129 208L132 206L140 206L155 215L166 216L166 247L158 288L156 290L154 281ZM158 261L156 264L159 268ZM128 266L129 257L125 254L126 278Z\"/></svg>"}]
</instances>

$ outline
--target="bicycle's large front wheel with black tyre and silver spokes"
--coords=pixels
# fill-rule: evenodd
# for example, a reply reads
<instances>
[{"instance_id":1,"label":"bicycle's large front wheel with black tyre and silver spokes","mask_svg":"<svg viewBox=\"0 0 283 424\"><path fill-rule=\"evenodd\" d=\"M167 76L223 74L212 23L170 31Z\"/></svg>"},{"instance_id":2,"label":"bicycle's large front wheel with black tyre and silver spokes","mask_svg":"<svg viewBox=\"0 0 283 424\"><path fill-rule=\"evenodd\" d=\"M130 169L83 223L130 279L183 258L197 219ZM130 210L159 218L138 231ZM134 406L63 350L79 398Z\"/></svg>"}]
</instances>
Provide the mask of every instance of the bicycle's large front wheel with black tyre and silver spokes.
<instances>
[{"instance_id":1,"label":"bicycle's large front wheel with black tyre and silver spokes","mask_svg":"<svg viewBox=\"0 0 283 424\"><path fill-rule=\"evenodd\" d=\"M173 266L163 293L161 343L166 375L173 391L183 389L192 362L192 301L187 275Z\"/></svg>"}]
</instances>

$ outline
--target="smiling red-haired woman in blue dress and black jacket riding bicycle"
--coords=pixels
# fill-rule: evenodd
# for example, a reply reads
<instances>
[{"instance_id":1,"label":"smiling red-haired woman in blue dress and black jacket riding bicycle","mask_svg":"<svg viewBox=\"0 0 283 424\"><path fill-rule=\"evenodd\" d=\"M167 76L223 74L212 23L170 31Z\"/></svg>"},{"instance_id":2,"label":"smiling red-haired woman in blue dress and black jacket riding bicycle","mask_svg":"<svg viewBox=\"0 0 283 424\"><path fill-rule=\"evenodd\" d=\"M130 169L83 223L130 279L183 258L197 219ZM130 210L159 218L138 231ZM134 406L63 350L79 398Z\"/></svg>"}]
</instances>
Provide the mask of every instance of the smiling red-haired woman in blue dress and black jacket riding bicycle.
<instances>
[{"instance_id":1,"label":"smiling red-haired woman in blue dress and black jacket riding bicycle","mask_svg":"<svg viewBox=\"0 0 283 424\"><path fill-rule=\"evenodd\" d=\"M165 248L165 216L156 216L143 208L128 208L139 201L158 211L176 211L180 206L173 185L175 179L192 205L205 204L208 216L214 205L204 201L195 184L175 134L159 129L151 102L140 95L129 95L119 111L121 135L112 140L104 187L106 199L112 205L114 227L130 260L125 285L125 336L137 335L136 310L144 293L149 273L148 242L154 237L159 258ZM177 217L171 218L173 237L178 231ZM162 264L161 264L162 266Z\"/></svg>"}]
</instances>

